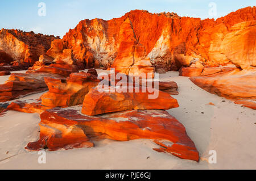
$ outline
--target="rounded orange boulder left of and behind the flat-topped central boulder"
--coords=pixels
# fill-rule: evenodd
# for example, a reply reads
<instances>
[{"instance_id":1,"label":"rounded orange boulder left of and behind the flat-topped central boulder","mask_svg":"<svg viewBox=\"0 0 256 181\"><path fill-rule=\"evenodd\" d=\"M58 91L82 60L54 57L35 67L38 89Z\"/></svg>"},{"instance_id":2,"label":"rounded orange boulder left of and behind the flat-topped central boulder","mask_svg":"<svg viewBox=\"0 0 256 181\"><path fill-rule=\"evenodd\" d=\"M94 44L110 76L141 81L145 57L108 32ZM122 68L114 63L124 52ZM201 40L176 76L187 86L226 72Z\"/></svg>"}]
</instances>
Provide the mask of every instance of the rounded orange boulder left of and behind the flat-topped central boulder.
<instances>
[{"instance_id":1,"label":"rounded orange boulder left of and behind the flat-topped central boulder","mask_svg":"<svg viewBox=\"0 0 256 181\"><path fill-rule=\"evenodd\" d=\"M100 82L95 75L85 72L72 73L67 79L45 78L45 81L49 91L41 99L47 107L82 104L84 96Z\"/></svg>"}]
</instances>

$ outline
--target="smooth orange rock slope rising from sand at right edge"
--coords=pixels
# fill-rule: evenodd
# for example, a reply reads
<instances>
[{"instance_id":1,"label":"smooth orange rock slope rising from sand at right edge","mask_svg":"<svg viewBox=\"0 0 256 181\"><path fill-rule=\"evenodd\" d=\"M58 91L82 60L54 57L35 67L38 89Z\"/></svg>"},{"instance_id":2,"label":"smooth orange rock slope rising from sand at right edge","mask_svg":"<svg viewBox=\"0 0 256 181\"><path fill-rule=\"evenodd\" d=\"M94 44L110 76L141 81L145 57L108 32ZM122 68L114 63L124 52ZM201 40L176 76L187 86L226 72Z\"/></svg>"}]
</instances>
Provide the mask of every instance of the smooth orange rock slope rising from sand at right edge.
<instances>
[{"instance_id":1,"label":"smooth orange rock slope rising from sand at right edge","mask_svg":"<svg viewBox=\"0 0 256 181\"><path fill-rule=\"evenodd\" d=\"M190 79L197 86L212 94L233 100L239 99L238 102L242 104L253 105L253 102L249 103L248 101L256 99L256 69L242 71L234 69ZM246 100L246 103L243 99Z\"/></svg>"}]
</instances>

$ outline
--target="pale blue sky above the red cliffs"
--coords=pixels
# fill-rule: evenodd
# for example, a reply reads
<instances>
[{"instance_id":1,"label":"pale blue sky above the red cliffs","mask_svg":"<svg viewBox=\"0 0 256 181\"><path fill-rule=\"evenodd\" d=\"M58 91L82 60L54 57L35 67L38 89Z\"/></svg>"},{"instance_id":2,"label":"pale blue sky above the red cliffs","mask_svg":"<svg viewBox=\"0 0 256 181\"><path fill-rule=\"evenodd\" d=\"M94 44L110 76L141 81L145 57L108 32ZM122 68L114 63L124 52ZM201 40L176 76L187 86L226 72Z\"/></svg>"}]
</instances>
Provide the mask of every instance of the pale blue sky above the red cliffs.
<instances>
[{"instance_id":1,"label":"pale blue sky above the red cliffs","mask_svg":"<svg viewBox=\"0 0 256 181\"><path fill-rule=\"evenodd\" d=\"M38 4L46 4L46 16L39 16ZM217 15L210 16L210 2ZM255 0L1 0L0 29L17 28L62 37L82 19L118 18L130 10L177 12L180 16L219 18L243 7L256 6Z\"/></svg>"}]
</instances>

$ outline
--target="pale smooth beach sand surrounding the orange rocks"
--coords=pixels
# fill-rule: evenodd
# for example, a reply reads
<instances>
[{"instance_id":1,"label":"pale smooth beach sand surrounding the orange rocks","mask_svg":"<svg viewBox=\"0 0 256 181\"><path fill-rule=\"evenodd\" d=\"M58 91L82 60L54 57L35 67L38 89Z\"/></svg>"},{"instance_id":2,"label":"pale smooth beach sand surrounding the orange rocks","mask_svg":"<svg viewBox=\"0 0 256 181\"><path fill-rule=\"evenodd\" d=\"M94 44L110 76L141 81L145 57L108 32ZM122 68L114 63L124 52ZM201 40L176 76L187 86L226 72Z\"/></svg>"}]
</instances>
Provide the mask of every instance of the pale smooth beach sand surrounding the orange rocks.
<instances>
[{"instance_id":1,"label":"pale smooth beach sand surrounding the orange rocks","mask_svg":"<svg viewBox=\"0 0 256 181\"><path fill-rule=\"evenodd\" d=\"M0 77L0 83L8 77ZM180 107L168 112L195 142L199 163L158 153L152 150L158 146L151 140L103 140L95 142L94 148L47 151L46 164L39 164L38 152L24 149L28 142L38 140L39 115L9 111L0 117L0 169L256 169L255 110L210 94L177 72L160 74L160 80L179 86L180 94L174 98ZM209 150L216 150L217 163L208 163Z\"/></svg>"}]
</instances>

